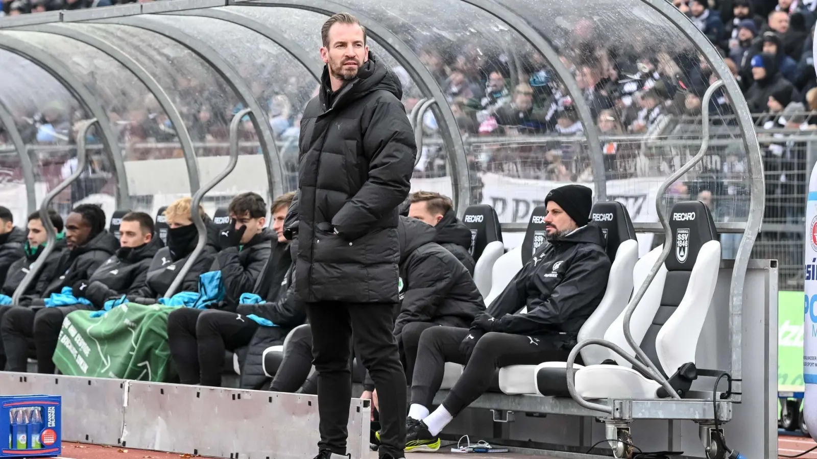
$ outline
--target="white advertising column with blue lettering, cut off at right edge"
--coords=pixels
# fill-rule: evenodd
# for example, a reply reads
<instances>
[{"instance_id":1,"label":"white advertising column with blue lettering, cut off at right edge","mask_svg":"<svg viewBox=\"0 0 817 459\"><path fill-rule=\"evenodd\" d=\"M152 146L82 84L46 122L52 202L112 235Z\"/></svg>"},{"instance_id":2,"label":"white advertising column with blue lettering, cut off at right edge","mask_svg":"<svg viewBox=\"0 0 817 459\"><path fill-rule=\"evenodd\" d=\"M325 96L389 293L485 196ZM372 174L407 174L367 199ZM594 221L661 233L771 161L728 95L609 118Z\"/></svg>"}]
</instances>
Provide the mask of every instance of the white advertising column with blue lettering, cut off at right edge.
<instances>
[{"instance_id":1,"label":"white advertising column with blue lettering, cut off at right edge","mask_svg":"<svg viewBox=\"0 0 817 459\"><path fill-rule=\"evenodd\" d=\"M806 426L817 426L817 165L811 171L806 202L806 305L803 320L803 419ZM817 429L810 435L817 438Z\"/></svg>"}]
</instances>

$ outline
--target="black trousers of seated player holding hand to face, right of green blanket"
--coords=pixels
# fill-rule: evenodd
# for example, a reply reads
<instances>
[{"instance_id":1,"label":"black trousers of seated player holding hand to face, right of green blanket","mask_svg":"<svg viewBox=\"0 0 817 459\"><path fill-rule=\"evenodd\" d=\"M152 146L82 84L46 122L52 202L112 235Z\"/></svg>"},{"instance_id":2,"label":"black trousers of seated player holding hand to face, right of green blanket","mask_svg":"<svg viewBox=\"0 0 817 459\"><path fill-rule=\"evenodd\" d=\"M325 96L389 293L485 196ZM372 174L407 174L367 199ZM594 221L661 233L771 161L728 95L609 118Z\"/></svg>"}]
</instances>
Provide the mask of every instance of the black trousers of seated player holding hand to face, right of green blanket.
<instances>
[{"instance_id":1,"label":"black trousers of seated player holding hand to face, right of green blanket","mask_svg":"<svg viewBox=\"0 0 817 459\"><path fill-rule=\"evenodd\" d=\"M182 384L221 387L225 350L248 345L259 325L241 314L181 308L167 316L167 341Z\"/></svg>"}]
</instances>

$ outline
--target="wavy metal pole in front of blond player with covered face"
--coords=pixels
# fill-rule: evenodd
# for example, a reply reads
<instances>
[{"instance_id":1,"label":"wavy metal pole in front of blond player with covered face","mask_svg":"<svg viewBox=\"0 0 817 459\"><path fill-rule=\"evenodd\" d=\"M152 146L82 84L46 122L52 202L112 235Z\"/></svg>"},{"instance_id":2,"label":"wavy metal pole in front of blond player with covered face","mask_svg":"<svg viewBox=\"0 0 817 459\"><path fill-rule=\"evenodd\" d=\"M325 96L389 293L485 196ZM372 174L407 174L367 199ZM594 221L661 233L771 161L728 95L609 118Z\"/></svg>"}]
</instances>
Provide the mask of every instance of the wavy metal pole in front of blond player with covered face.
<instances>
[{"instance_id":1,"label":"wavy metal pole in front of blond player with covered face","mask_svg":"<svg viewBox=\"0 0 817 459\"><path fill-rule=\"evenodd\" d=\"M165 298L170 298L176 293L176 290L181 285L182 281L184 281L185 276L190 271L190 268L193 267L193 264L199 258L199 255L204 250L204 245L207 244L207 227L204 225L204 220L202 216L199 215L199 205L204 198L204 195L208 193L214 186L218 185L221 180L224 180L225 176L229 176L230 172L233 172L235 168L235 164L239 162L239 124L241 124L241 118L245 115L249 114L252 118L255 118L255 114L252 113L252 109L243 109L239 111L239 113L234 114L233 120L230 122L230 161L227 163L227 167L212 180L208 181L207 184L203 185L196 193L193 195L192 202L190 203L190 219L193 221L193 224L196 225L196 230L199 230L199 241L196 243L196 247L193 249L193 253L190 254L190 257L185 261L185 265L181 267L179 270L179 274L176 274L176 279L173 279L173 283L170 284L170 287L167 288L167 292L164 292Z\"/></svg>"}]
</instances>

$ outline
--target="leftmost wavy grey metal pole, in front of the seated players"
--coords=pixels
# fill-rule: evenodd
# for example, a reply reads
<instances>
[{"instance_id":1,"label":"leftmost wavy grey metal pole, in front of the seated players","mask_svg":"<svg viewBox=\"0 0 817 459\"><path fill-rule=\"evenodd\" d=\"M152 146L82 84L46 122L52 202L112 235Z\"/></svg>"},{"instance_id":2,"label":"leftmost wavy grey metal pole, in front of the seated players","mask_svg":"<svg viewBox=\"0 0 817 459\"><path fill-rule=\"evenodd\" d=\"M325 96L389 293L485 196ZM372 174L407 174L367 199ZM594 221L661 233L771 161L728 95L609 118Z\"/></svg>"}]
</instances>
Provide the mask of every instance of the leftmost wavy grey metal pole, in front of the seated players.
<instances>
[{"instance_id":1,"label":"leftmost wavy grey metal pole, in front of the seated players","mask_svg":"<svg viewBox=\"0 0 817 459\"><path fill-rule=\"evenodd\" d=\"M32 283L34 278L36 278L40 271L42 271L42 267L46 264L48 256L51 255L51 252L54 252L54 245L56 244L56 228L54 228L54 224L51 223L51 217L48 216L48 211L51 208L51 201L56 198L57 194L62 193L63 189L68 188L69 185L74 183L74 181L76 181L79 176L83 175L83 172L85 172L85 168L88 165L87 152L85 150L85 137L88 134L88 130L91 129L94 123L97 123L96 118L85 120L78 124L77 168L74 169L74 173L71 174L71 176L63 180L62 183L57 185L55 189L51 189L51 192L48 193L44 199L42 199L42 204L40 205L40 221L42 221L42 227L46 230L46 248L42 249L42 252L38 256L38 261L31 265L29 273L25 274L25 278L23 278L23 281L20 282L20 285L14 291L14 295L11 296L12 305L20 305L20 296L23 296L23 293L29 288L29 285Z\"/></svg>"}]
</instances>

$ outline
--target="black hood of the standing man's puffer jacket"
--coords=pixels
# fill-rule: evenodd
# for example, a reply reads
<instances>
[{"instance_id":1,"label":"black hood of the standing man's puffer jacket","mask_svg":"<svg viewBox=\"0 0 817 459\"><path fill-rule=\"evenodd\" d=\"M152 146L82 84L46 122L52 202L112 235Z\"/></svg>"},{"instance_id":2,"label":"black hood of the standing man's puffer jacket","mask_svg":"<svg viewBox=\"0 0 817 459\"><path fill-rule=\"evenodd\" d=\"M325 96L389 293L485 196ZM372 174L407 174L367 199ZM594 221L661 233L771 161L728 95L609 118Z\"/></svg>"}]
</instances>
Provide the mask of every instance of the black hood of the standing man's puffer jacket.
<instances>
[{"instance_id":1,"label":"black hood of the standing man's puffer jacket","mask_svg":"<svg viewBox=\"0 0 817 459\"><path fill-rule=\"evenodd\" d=\"M330 108L343 107L353 100L381 89L391 92L397 99L403 98L403 85L400 83L400 78L386 65L377 60L372 51L368 52L368 60L358 70L357 77L347 82L337 91L331 107L327 103L328 96L332 94L332 81L329 78L328 65L324 65L324 74L321 75L320 81L320 102L324 111Z\"/></svg>"}]
</instances>

